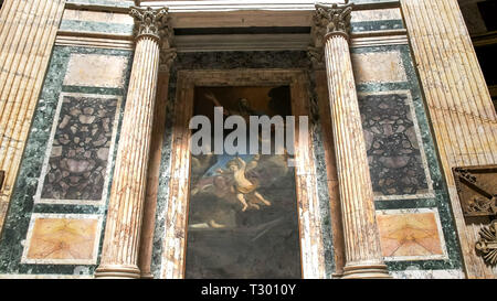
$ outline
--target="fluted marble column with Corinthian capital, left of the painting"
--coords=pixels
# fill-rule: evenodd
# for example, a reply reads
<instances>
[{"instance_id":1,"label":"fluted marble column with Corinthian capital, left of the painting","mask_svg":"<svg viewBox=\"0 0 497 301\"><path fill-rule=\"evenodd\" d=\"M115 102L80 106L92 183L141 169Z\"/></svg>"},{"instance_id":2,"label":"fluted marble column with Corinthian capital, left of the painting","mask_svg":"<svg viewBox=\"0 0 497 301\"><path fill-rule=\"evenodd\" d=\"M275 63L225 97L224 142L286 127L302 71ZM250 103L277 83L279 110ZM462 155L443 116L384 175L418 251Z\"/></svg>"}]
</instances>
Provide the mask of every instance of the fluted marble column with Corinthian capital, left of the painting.
<instances>
[{"instance_id":1,"label":"fluted marble column with Corinthian capital, left of the painting","mask_svg":"<svg viewBox=\"0 0 497 301\"><path fill-rule=\"evenodd\" d=\"M131 8L136 50L96 278L139 278L138 250L167 9Z\"/></svg>"}]
</instances>

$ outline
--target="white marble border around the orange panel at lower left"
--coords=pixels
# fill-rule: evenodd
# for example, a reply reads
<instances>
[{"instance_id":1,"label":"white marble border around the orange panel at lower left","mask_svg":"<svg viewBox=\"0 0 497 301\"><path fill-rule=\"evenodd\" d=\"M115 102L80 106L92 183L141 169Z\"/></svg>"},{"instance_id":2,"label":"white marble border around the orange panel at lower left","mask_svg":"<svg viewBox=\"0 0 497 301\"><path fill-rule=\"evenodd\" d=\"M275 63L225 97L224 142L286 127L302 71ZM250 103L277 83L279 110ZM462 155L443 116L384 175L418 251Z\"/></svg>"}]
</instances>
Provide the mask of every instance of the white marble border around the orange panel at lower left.
<instances>
[{"instance_id":1,"label":"white marble border around the orange panel at lower left","mask_svg":"<svg viewBox=\"0 0 497 301\"><path fill-rule=\"evenodd\" d=\"M93 246L92 259L29 259L28 251L31 246L31 238L33 236L34 223L39 218L65 218L65 219L95 219L97 221L97 228L95 232L95 241ZM98 258L98 247L102 236L103 216L98 214L52 214L52 213L33 213L31 215L30 226L25 240L21 244L24 246L24 250L21 257L21 264L34 264L34 265L96 265Z\"/></svg>"}]
</instances>

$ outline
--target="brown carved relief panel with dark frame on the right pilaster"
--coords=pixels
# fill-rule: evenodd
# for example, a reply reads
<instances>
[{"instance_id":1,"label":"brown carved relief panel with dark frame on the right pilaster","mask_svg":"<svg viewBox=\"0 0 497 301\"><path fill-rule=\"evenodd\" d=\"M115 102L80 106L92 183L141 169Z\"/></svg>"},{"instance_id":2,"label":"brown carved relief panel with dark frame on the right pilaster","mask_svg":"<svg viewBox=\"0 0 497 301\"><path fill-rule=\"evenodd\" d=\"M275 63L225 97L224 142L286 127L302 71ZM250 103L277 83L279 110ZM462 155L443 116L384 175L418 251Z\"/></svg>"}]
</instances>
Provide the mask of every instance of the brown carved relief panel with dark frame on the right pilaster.
<instances>
[{"instance_id":1,"label":"brown carved relief panel with dark frame on the right pilaster","mask_svg":"<svg viewBox=\"0 0 497 301\"><path fill-rule=\"evenodd\" d=\"M497 165L455 168L454 179L465 216L497 215Z\"/></svg>"}]
</instances>

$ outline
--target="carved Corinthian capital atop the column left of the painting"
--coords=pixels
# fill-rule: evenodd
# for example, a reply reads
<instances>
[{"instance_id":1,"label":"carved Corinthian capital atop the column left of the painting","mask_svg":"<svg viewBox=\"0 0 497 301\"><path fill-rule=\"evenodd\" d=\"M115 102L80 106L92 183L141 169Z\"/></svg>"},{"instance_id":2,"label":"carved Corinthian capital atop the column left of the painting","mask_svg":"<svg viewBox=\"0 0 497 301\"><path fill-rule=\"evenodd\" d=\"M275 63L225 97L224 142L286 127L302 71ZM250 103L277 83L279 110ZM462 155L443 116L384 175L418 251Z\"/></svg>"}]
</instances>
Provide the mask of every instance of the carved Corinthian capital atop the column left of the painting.
<instances>
[{"instance_id":1,"label":"carved Corinthian capital atop the column left of the painting","mask_svg":"<svg viewBox=\"0 0 497 301\"><path fill-rule=\"evenodd\" d=\"M168 24L168 9L131 7L129 14L135 18L135 36L152 36L157 40L169 40L171 29Z\"/></svg>"}]
</instances>

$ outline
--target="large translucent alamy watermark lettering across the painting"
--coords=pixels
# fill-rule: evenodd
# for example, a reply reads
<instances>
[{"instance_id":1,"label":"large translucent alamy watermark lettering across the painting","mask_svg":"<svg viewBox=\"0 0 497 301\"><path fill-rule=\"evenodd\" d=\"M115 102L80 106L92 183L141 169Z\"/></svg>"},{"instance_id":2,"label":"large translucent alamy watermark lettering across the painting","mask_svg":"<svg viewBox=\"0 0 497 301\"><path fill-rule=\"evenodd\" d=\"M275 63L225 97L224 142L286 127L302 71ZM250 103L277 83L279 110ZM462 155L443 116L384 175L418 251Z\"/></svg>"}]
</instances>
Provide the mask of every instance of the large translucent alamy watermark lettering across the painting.
<instances>
[{"instance_id":1,"label":"large translucent alamy watermark lettering across the painting","mask_svg":"<svg viewBox=\"0 0 497 301\"><path fill-rule=\"evenodd\" d=\"M286 154L292 158L295 155L295 116L285 119L282 116L248 116L247 125L242 116L224 119L223 107L214 107L214 125L207 116L191 118L189 128L197 131L191 136L190 150L193 155ZM232 131L224 137L224 130ZM307 116L298 117L297 138L299 143L308 142ZM295 165L293 159L288 159L288 165Z\"/></svg>"}]
</instances>

